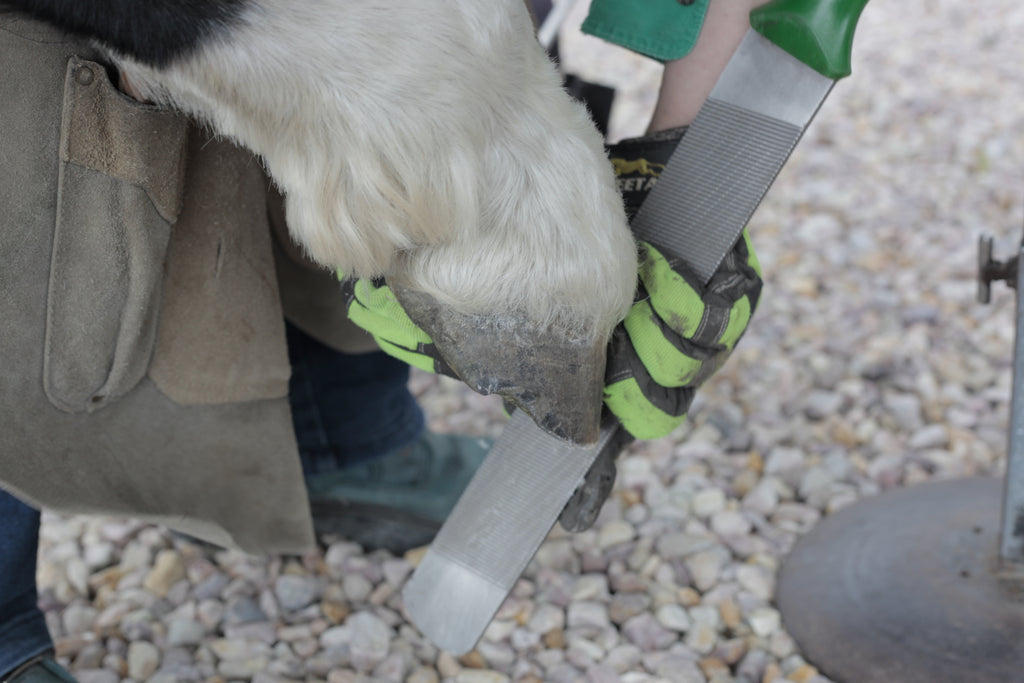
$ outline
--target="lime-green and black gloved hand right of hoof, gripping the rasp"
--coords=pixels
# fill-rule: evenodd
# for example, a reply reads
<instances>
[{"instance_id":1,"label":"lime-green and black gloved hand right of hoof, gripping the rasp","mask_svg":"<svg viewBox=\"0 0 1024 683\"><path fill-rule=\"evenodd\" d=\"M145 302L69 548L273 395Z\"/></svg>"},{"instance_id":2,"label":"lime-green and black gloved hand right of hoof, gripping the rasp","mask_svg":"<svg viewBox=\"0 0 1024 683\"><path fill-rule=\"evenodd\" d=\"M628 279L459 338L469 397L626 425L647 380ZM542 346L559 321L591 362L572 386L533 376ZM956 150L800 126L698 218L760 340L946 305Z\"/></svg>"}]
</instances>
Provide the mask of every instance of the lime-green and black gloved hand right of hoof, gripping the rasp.
<instances>
[{"instance_id":1,"label":"lime-green and black gloved hand right of hoof, gripping the rasp","mask_svg":"<svg viewBox=\"0 0 1024 683\"><path fill-rule=\"evenodd\" d=\"M625 140L609 150L632 218L685 129ZM761 294L761 267L742 239L707 286L682 259L640 243L637 302L611 339L604 403L633 436L665 436L686 419L696 389L739 341Z\"/></svg>"}]
</instances>

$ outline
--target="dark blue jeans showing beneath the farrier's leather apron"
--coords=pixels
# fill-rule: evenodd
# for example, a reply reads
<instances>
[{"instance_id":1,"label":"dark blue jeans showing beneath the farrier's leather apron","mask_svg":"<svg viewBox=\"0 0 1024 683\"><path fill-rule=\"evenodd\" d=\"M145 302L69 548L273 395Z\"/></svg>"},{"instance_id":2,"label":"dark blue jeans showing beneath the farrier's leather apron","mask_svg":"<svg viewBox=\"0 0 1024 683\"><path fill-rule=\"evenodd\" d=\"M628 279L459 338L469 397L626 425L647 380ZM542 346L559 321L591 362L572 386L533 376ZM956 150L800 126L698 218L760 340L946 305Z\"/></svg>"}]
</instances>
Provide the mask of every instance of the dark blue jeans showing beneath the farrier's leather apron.
<instances>
[{"instance_id":1,"label":"dark blue jeans showing beneath the farrier's leather apron","mask_svg":"<svg viewBox=\"0 0 1024 683\"><path fill-rule=\"evenodd\" d=\"M307 474L373 460L414 441L423 412L409 366L380 351L338 353L288 325L289 400ZM53 647L36 596L39 512L0 489L0 678Z\"/></svg>"}]
</instances>

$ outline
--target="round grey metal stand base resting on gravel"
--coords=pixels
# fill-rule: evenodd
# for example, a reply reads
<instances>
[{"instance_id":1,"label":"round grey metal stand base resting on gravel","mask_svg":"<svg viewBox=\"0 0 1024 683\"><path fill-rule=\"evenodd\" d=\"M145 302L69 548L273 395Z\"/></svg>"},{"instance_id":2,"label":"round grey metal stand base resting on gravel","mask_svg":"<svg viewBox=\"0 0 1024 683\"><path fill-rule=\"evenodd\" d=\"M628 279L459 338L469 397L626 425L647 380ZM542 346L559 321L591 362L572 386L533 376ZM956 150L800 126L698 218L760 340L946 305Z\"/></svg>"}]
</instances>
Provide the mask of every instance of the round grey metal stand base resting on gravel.
<instances>
[{"instance_id":1,"label":"round grey metal stand base resting on gravel","mask_svg":"<svg viewBox=\"0 0 1024 683\"><path fill-rule=\"evenodd\" d=\"M786 558L776 601L840 683L1024 680L1024 582L996 575L998 479L927 483L824 519Z\"/></svg>"}]
</instances>

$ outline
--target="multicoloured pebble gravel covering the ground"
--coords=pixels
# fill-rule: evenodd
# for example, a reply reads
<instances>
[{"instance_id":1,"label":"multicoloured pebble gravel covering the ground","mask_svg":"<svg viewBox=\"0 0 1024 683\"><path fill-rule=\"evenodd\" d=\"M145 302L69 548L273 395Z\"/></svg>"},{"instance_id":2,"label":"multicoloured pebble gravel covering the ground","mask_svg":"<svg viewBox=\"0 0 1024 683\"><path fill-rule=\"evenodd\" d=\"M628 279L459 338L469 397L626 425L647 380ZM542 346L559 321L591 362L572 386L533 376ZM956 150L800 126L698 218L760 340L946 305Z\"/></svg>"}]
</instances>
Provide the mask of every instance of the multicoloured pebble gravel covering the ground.
<instances>
[{"instance_id":1,"label":"multicoloured pebble gravel covering the ground","mask_svg":"<svg viewBox=\"0 0 1024 683\"><path fill-rule=\"evenodd\" d=\"M623 456L596 527L552 532L473 653L402 618L415 552L253 558L47 515L61 661L83 683L827 681L772 604L794 541L881 490L1004 467L1013 296L975 303L975 240L1006 255L1024 226L1024 7L974 9L868 5L854 76L753 221L751 331L688 424ZM657 67L573 35L565 49L625 88L615 135L641 131ZM500 431L496 401L414 387L435 429Z\"/></svg>"}]
</instances>

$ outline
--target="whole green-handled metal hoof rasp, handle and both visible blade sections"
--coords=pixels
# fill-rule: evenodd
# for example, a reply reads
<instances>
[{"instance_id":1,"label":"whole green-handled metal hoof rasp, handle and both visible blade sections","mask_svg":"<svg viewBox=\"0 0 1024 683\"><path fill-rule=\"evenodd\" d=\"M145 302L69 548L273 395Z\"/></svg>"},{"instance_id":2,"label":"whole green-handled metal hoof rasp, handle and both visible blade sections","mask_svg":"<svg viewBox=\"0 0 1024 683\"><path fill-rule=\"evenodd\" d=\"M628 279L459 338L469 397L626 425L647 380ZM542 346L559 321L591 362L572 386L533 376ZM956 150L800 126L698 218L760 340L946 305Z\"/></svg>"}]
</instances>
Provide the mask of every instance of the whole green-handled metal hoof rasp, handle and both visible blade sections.
<instances>
[{"instance_id":1,"label":"whole green-handled metal hoof rasp, handle and both visible blade sections","mask_svg":"<svg viewBox=\"0 0 1024 683\"><path fill-rule=\"evenodd\" d=\"M638 239L711 279L835 81L849 75L866 2L772 0L751 13L773 40L748 32L634 218ZM472 649L601 449L617 447L620 429L574 449L513 417L402 592L424 635L454 653Z\"/></svg>"}]
</instances>

